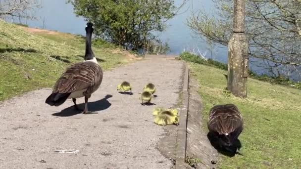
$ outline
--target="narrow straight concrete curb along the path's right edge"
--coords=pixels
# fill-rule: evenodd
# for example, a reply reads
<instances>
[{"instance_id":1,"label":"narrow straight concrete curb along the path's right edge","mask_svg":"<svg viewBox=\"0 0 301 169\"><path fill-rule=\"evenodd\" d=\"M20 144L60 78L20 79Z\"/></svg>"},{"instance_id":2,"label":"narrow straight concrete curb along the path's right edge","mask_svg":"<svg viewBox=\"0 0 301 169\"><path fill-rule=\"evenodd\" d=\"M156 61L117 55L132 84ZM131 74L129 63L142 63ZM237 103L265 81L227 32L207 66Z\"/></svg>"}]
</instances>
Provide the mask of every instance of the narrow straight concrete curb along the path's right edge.
<instances>
[{"instance_id":1,"label":"narrow straight concrete curb along the path's right edge","mask_svg":"<svg viewBox=\"0 0 301 169\"><path fill-rule=\"evenodd\" d=\"M189 84L189 67L185 63L185 73L183 81L183 102L182 109L179 115L179 128L177 132L176 142L176 155L175 155L175 169L185 169L185 157L186 157L186 129L187 129L187 115L188 115L188 84Z\"/></svg>"}]
</instances>

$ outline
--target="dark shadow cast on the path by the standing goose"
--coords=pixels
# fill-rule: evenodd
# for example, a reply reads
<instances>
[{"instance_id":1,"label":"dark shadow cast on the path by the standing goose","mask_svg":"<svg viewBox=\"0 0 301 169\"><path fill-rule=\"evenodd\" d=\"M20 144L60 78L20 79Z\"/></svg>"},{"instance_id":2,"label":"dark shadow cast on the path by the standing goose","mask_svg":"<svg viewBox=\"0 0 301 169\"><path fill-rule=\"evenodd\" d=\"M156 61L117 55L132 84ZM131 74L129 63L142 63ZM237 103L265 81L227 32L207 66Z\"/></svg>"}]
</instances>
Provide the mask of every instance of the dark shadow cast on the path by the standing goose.
<instances>
[{"instance_id":1,"label":"dark shadow cast on the path by the standing goose","mask_svg":"<svg viewBox=\"0 0 301 169\"><path fill-rule=\"evenodd\" d=\"M97 112L109 108L111 106L111 103L107 99L111 97L113 96L107 94L104 98L98 101L88 102L88 111ZM74 105L72 105L70 107L61 110L58 113L53 113L52 116L69 117L69 116L81 114L84 110L85 103L78 104L77 106L82 110L76 110Z\"/></svg>"}]
</instances>

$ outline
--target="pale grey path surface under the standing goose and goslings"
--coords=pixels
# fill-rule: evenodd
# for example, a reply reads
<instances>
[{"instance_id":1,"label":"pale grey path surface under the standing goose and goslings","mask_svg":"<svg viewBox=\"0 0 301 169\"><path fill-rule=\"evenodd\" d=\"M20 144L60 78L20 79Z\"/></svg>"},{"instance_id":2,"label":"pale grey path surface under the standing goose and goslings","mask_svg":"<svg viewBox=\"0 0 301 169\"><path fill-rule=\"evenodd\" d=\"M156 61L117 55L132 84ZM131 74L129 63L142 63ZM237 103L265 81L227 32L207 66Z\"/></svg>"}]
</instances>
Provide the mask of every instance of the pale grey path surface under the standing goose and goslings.
<instances>
[{"instance_id":1,"label":"pale grey path surface under the standing goose and goslings","mask_svg":"<svg viewBox=\"0 0 301 169\"><path fill-rule=\"evenodd\" d=\"M104 72L99 90L89 100L89 110L98 114L76 112L72 100L50 107L45 104L50 89L0 103L0 169L173 167L156 149L164 130L153 123L151 111L177 103L183 69L181 61L151 57ZM132 84L133 95L116 91L123 80ZM139 92L148 82L156 85L156 105L142 106ZM83 102L77 101L81 108Z\"/></svg>"}]
</instances>

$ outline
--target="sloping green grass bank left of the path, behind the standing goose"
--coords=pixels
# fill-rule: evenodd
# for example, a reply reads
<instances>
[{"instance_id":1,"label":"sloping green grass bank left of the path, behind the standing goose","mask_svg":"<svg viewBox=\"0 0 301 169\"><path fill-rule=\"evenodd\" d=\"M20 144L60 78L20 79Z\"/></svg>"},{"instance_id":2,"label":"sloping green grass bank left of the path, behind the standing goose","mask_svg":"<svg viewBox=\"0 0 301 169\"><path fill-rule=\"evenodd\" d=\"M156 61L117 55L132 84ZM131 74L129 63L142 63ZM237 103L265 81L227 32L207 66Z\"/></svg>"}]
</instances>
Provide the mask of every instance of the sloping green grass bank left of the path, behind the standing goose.
<instances>
[{"instance_id":1,"label":"sloping green grass bank left of the path, behind the standing goose","mask_svg":"<svg viewBox=\"0 0 301 169\"><path fill-rule=\"evenodd\" d=\"M0 21L0 101L51 87L67 66L84 59L83 37L49 31L30 33L24 29ZM110 43L94 42L94 53L101 59L99 64L104 71L129 62L125 57L128 52Z\"/></svg>"}]
</instances>

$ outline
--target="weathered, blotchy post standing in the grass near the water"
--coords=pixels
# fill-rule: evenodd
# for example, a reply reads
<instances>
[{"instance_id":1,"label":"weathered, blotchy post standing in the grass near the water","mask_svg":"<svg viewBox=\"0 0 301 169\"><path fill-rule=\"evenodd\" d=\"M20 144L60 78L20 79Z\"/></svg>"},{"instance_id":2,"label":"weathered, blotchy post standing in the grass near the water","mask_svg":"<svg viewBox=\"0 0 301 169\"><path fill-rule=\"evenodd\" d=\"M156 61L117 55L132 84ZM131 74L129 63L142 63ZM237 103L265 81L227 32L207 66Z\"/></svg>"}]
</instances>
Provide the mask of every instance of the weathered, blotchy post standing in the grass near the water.
<instances>
[{"instance_id":1,"label":"weathered, blotchy post standing in the grass near the water","mask_svg":"<svg viewBox=\"0 0 301 169\"><path fill-rule=\"evenodd\" d=\"M249 76L248 42L245 35L245 0L234 0L233 34L228 43L228 89L235 96L247 97Z\"/></svg>"}]
</instances>

